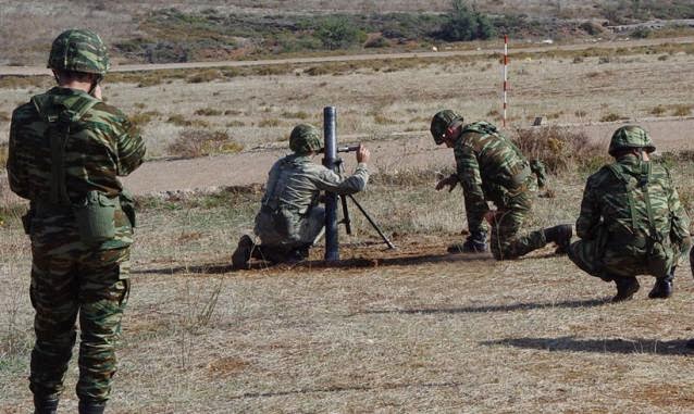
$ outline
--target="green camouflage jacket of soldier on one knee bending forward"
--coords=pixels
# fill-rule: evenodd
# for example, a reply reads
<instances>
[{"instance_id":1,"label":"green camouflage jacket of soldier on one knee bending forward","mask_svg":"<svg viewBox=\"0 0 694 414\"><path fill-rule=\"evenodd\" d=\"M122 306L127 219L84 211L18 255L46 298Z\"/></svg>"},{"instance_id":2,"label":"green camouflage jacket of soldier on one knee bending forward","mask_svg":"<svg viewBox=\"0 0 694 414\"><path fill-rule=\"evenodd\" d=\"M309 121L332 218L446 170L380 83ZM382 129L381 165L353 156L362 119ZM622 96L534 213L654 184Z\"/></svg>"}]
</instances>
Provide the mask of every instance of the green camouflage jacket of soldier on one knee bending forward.
<instances>
[{"instance_id":1,"label":"green camouflage jacket of soldier on one knee bending forward","mask_svg":"<svg viewBox=\"0 0 694 414\"><path fill-rule=\"evenodd\" d=\"M520 150L485 122L462 128L454 145L454 154L471 231L482 228L487 201L505 209L515 196L528 189L532 179L530 163Z\"/></svg>"}]
</instances>

